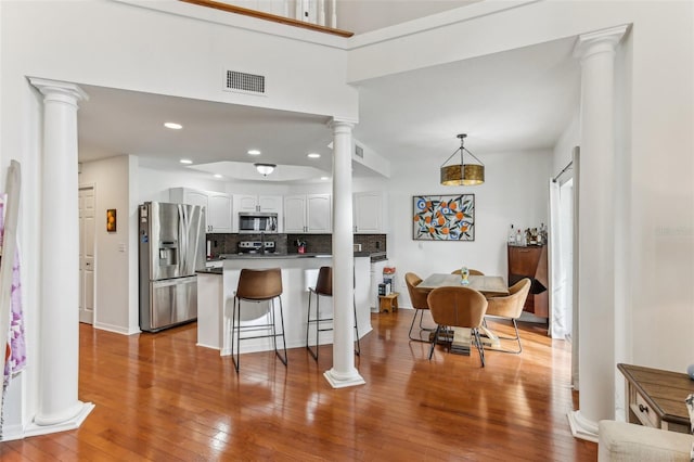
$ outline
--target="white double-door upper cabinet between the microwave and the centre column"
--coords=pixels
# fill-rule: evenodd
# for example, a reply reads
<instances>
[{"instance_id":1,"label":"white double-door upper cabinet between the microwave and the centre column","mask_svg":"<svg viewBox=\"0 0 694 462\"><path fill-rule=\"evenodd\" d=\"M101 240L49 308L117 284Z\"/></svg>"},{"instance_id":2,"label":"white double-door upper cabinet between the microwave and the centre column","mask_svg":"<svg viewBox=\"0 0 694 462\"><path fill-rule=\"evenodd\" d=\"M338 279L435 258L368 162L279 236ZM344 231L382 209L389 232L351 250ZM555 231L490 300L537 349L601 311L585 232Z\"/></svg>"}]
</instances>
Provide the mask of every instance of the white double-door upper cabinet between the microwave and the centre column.
<instances>
[{"instance_id":1,"label":"white double-door upper cabinet between the microwave and the centre column","mask_svg":"<svg viewBox=\"0 0 694 462\"><path fill-rule=\"evenodd\" d=\"M285 233L330 233L332 197L330 194L295 194L284 196Z\"/></svg>"}]
</instances>

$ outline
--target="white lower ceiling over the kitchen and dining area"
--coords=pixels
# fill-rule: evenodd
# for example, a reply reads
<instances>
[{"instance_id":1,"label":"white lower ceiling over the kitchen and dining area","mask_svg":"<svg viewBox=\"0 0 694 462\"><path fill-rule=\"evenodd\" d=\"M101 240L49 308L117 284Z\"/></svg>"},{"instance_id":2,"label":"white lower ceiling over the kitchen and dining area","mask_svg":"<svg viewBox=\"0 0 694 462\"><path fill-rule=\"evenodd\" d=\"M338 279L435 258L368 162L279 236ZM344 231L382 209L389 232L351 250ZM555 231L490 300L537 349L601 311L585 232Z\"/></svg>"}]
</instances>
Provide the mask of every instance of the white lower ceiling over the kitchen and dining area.
<instances>
[{"instance_id":1,"label":"white lower ceiling over the kitchen and dining area","mask_svg":"<svg viewBox=\"0 0 694 462\"><path fill-rule=\"evenodd\" d=\"M565 39L362 82L355 138L390 161L426 155L442 163L461 132L483 162L485 153L551 149L578 104L573 44ZM78 112L80 162L132 154L144 166L181 168L179 159L190 158L195 167L185 168L245 179L260 178L250 163L270 162L280 165L267 177L274 181L318 180L332 169L323 116L82 88L90 99ZM166 129L167 120L184 128ZM252 158L249 149L262 154ZM321 158L307 158L309 152ZM355 165L354 175L373 172Z\"/></svg>"}]
</instances>

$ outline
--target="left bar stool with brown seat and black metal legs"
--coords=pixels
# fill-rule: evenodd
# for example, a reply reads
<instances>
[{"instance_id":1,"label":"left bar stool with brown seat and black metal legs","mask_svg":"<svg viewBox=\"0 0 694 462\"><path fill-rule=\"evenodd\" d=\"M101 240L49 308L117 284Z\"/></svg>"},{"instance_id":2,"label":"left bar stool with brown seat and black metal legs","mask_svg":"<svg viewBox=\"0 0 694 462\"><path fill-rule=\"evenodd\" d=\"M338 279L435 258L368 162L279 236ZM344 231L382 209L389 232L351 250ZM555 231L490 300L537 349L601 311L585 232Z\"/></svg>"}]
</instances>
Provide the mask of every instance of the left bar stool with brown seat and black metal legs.
<instances>
[{"instance_id":1,"label":"left bar stool with brown seat and black metal legs","mask_svg":"<svg viewBox=\"0 0 694 462\"><path fill-rule=\"evenodd\" d=\"M272 345L274 346L274 354L284 365L286 365L286 339L284 337L284 315L282 312L282 272L280 268L270 269L247 269L241 270L239 275L239 285L234 294L234 307L231 315L231 359L234 362L234 368L239 372L241 341L247 341L250 338L267 338L272 337ZM274 318L274 299L280 300L280 323L282 331L278 333L277 322ZM270 322L265 324L254 325L241 325L241 301L252 301L259 304L261 301L268 301ZM265 334L244 336L241 337L243 332L266 331ZM234 354L234 337L235 354ZM280 355L278 350L278 337L282 337L282 349L284 350L284 357Z\"/></svg>"}]
</instances>

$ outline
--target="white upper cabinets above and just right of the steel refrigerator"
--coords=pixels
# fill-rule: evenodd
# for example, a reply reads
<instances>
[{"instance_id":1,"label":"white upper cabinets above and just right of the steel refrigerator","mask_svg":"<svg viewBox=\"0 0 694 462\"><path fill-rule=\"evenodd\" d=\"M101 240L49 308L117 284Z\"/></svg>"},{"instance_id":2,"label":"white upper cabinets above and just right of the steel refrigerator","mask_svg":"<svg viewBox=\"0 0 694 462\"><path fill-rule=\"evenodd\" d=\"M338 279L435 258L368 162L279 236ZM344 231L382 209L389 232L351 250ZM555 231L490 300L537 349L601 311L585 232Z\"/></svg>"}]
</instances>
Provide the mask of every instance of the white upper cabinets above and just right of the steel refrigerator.
<instances>
[{"instance_id":1,"label":"white upper cabinets above and just right of the steel refrigerator","mask_svg":"<svg viewBox=\"0 0 694 462\"><path fill-rule=\"evenodd\" d=\"M230 194L190 188L171 188L169 189L169 200L178 204L205 207L205 229L208 233L232 232L232 200Z\"/></svg>"}]
</instances>

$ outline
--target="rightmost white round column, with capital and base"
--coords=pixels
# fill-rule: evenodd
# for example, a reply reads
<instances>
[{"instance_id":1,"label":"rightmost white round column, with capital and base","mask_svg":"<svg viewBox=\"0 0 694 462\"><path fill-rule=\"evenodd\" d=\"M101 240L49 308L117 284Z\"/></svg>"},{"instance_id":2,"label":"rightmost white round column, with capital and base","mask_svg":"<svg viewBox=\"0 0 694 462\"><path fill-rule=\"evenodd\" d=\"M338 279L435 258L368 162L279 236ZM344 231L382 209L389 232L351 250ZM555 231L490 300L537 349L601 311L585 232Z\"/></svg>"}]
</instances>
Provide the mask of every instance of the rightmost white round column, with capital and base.
<instances>
[{"instance_id":1,"label":"rightmost white round column, with capital and base","mask_svg":"<svg viewBox=\"0 0 694 462\"><path fill-rule=\"evenodd\" d=\"M579 410L574 436L597 441L597 422L615 412L615 51L618 26L582 35L579 179ZM587 339L590 338L590 342Z\"/></svg>"}]
</instances>

